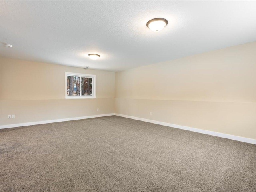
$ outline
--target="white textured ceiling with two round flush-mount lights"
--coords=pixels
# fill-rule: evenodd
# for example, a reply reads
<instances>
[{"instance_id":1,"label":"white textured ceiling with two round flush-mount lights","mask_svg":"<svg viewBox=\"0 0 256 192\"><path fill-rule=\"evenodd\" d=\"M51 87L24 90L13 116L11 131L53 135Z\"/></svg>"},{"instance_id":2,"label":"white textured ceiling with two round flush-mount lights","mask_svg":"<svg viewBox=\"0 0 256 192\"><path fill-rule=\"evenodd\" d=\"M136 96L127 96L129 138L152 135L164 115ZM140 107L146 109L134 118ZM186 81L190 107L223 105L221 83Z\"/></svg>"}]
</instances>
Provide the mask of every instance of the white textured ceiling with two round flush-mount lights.
<instances>
[{"instance_id":1,"label":"white textured ceiling with two round flush-mount lights","mask_svg":"<svg viewBox=\"0 0 256 192\"><path fill-rule=\"evenodd\" d=\"M253 41L256 1L0 1L9 58L120 71Z\"/></svg>"}]
</instances>

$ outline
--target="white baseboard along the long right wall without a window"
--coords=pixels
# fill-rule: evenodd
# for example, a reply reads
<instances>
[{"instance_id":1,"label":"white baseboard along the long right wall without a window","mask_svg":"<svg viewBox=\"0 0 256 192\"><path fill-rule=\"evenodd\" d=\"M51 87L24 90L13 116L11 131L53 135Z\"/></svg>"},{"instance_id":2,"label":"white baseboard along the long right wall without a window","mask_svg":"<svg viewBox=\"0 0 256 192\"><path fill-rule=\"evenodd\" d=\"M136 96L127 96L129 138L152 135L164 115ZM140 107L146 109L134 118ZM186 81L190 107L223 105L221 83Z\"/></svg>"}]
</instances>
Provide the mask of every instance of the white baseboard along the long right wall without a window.
<instances>
[{"instance_id":1,"label":"white baseboard along the long right wall without a window","mask_svg":"<svg viewBox=\"0 0 256 192\"><path fill-rule=\"evenodd\" d=\"M235 135L218 133L218 132L214 132L214 131L208 131L208 130L197 129L197 128L192 128L192 127L187 127L187 126L182 126L182 125L165 123L165 122L160 122L160 121L155 121L155 120L150 120L150 119L144 119L144 118L139 118L139 117L134 117L134 116L129 116L129 115L122 115L122 114L116 114L116 113L115 113L115 115L120 116L120 117L126 117L126 118L130 118L130 119L140 120L140 121L144 121L144 122L154 123L154 124L158 124L158 125L164 125L164 126L168 126L168 127L174 127L174 128L184 129L184 130L198 132L198 133L202 133L202 134L207 134L207 135L232 139L232 140L236 140L236 141L256 144L256 139L250 139L250 138L245 138L245 137L240 137L240 136L235 136Z\"/></svg>"}]
</instances>

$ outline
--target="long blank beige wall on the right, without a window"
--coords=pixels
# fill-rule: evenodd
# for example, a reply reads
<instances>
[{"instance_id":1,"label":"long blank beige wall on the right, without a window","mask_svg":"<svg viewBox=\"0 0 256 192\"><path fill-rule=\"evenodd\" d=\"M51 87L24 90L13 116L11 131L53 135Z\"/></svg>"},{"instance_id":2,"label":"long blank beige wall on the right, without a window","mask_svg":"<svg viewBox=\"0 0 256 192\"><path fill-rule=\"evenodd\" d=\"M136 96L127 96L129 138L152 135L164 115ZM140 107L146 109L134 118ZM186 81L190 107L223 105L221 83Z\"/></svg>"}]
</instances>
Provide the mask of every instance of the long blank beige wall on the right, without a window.
<instances>
[{"instance_id":1,"label":"long blank beige wall on the right, without a window","mask_svg":"<svg viewBox=\"0 0 256 192\"><path fill-rule=\"evenodd\" d=\"M115 112L256 139L256 42L118 72Z\"/></svg>"}]
</instances>

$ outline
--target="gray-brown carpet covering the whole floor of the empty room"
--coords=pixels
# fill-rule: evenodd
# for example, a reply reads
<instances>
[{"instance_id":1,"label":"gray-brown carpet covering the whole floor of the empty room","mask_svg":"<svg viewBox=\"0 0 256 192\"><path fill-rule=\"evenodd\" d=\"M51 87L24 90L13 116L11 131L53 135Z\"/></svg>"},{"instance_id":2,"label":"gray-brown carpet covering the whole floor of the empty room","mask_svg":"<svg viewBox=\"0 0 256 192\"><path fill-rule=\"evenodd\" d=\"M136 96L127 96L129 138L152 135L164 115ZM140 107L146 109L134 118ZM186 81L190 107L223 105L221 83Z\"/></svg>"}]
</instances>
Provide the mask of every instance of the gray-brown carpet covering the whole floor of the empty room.
<instances>
[{"instance_id":1,"label":"gray-brown carpet covering the whole floor of the empty room","mask_svg":"<svg viewBox=\"0 0 256 192\"><path fill-rule=\"evenodd\" d=\"M256 192L256 145L118 116L0 130L0 192Z\"/></svg>"}]
</instances>

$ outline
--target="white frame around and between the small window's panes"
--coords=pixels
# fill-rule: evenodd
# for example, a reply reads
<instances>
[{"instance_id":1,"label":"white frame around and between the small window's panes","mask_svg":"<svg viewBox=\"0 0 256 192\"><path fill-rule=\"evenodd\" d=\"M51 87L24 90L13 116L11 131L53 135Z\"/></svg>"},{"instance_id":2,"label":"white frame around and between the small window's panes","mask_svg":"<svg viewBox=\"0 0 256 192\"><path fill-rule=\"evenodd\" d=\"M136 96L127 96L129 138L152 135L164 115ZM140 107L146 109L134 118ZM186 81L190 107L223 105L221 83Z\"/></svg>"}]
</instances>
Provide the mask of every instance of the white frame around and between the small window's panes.
<instances>
[{"instance_id":1,"label":"white frame around and between the small window's panes","mask_svg":"<svg viewBox=\"0 0 256 192\"><path fill-rule=\"evenodd\" d=\"M79 76L80 77L80 91L81 94L81 80L82 77L92 78L92 95L67 95L68 90L68 76ZM72 72L65 72L65 98L66 99L93 99L96 98L96 75L90 74L82 74L82 73L72 73Z\"/></svg>"}]
</instances>

